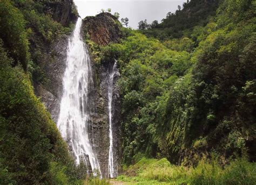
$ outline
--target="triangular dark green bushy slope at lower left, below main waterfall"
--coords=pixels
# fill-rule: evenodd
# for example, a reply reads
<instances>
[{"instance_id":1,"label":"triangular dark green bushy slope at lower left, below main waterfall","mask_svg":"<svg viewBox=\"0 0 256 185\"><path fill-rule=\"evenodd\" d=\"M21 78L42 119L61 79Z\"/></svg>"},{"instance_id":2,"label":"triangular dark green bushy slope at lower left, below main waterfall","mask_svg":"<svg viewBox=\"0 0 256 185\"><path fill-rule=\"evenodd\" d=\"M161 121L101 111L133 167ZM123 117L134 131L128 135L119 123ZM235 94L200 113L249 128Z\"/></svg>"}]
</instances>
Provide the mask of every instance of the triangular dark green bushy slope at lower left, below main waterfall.
<instances>
[{"instance_id":1,"label":"triangular dark green bushy slope at lower left, below main waterfall","mask_svg":"<svg viewBox=\"0 0 256 185\"><path fill-rule=\"evenodd\" d=\"M0 56L1 181L72 183L77 178L75 163L50 114L33 94L28 75L20 66L11 67L2 46Z\"/></svg>"}]
</instances>

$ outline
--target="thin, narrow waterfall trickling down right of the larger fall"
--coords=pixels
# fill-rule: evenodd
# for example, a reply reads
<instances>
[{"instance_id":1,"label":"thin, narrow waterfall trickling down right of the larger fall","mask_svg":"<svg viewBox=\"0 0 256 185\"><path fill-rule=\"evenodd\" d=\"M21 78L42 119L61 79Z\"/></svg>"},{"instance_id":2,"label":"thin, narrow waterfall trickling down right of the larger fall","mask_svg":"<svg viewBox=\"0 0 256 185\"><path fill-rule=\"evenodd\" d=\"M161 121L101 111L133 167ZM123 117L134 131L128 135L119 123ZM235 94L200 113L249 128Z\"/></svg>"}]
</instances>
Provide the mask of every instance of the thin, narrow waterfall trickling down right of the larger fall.
<instances>
[{"instance_id":1,"label":"thin, narrow waterfall trickling down right of the larger fall","mask_svg":"<svg viewBox=\"0 0 256 185\"><path fill-rule=\"evenodd\" d=\"M111 178L115 177L114 174L114 161L113 161L113 133L112 133L112 96L113 96L113 79L115 74L116 61L109 72L109 86L108 86L108 95L109 95L109 176Z\"/></svg>"}]
</instances>

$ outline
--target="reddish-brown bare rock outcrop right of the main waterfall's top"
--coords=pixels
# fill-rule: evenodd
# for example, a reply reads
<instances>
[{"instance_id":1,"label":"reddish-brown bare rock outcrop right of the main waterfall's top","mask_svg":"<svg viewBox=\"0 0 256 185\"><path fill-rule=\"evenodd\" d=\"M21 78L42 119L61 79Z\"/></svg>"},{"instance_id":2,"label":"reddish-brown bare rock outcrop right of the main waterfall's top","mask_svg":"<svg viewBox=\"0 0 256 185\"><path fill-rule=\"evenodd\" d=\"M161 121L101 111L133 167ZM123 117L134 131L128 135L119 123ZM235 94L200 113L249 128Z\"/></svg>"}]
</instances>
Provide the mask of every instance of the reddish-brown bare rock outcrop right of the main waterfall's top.
<instances>
[{"instance_id":1,"label":"reddish-brown bare rock outcrop right of the main waterfall's top","mask_svg":"<svg viewBox=\"0 0 256 185\"><path fill-rule=\"evenodd\" d=\"M111 13L105 12L86 17L83 25L85 33L99 45L116 43L121 37L120 22Z\"/></svg>"}]
</instances>

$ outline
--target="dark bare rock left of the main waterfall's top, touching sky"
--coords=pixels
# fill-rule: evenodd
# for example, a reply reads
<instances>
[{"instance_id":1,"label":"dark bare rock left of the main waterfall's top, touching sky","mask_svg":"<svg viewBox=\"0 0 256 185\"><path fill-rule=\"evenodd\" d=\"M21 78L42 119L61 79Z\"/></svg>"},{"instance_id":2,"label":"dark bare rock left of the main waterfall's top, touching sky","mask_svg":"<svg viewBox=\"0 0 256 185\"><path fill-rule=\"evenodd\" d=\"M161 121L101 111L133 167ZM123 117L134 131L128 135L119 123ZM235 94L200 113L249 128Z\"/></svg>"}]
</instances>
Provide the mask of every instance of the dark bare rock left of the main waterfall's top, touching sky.
<instances>
[{"instance_id":1,"label":"dark bare rock left of the main waterfall's top, touching sky","mask_svg":"<svg viewBox=\"0 0 256 185\"><path fill-rule=\"evenodd\" d=\"M73 0L55 0L45 2L45 12L51 15L53 20L59 22L63 26L68 26L70 22L75 22L77 13Z\"/></svg>"}]
</instances>

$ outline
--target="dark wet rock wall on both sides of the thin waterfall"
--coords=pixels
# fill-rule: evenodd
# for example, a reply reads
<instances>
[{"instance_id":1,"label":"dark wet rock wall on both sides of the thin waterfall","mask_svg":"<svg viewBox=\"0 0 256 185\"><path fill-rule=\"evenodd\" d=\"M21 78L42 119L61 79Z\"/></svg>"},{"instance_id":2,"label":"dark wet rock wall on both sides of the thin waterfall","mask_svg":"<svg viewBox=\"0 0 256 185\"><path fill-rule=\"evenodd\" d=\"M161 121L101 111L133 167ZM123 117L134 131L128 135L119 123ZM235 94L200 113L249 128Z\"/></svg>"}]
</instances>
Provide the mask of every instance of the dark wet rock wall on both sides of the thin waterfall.
<instances>
[{"instance_id":1,"label":"dark wet rock wall on both sides of the thin waterfall","mask_svg":"<svg viewBox=\"0 0 256 185\"><path fill-rule=\"evenodd\" d=\"M110 68L114 63L104 63L96 68L93 66L93 78L95 79L95 88L91 91L91 97L94 101L94 110L91 115L92 131L91 143L95 149L103 176L109 177L109 109L108 109L108 87ZM117 86L117 80L120 77L118 69L114 72L113 79L113 98L112 98L112 132L113 132L113 161L114 170L120 169L120 90ZM98 81L96 81L96 79Z\"/></svg>"}]
</instances>

